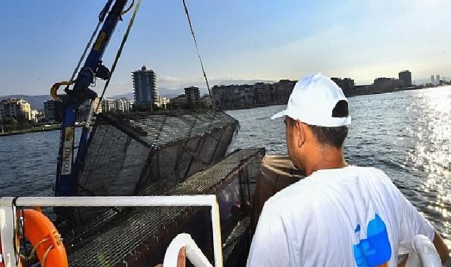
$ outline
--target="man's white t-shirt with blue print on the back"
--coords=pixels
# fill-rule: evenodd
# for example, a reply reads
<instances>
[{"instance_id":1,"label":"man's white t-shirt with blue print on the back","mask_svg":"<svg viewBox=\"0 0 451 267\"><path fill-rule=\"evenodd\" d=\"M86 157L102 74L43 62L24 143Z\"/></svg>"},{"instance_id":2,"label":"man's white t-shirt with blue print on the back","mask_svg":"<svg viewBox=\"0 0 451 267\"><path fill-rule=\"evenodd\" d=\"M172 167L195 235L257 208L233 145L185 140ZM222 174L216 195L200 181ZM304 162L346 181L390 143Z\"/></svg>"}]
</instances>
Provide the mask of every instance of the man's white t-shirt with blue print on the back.
<instances>
[{"instance_id":1,"label":"man's white t-shirt with blue print on the back","mask_svg":"<svg viewBox=\"0 0 451 267\"><path fill-rule=\"evenodd\" d=\"M248 266L397 266L434 230L383 171L315 171L263 207Z\"/></svg>"}]
</instances>

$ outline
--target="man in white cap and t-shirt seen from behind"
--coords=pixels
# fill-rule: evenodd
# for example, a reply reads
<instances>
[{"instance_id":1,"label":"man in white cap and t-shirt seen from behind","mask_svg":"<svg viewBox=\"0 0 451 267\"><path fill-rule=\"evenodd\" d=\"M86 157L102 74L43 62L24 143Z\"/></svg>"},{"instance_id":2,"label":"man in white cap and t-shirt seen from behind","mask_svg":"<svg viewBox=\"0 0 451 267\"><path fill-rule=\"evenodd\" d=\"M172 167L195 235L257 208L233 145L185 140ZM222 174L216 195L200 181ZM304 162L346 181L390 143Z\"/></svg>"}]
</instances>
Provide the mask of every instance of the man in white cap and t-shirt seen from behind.
<instances>
[{"instance_id":1,"label":"man in white cap and t-shirt seen from behind","mask_svg":"<svg viewBox=\"0 0 451 267\"><path fill-rule=\"evenodd\" d=\"M383 171L345 162L348 113L343 91L316 74L272 117L286 116L288 155L306 178L265 203L248 266L397 266L415 235L432 240L446 261L440 235Z\"/></svg>"}]
</instances>

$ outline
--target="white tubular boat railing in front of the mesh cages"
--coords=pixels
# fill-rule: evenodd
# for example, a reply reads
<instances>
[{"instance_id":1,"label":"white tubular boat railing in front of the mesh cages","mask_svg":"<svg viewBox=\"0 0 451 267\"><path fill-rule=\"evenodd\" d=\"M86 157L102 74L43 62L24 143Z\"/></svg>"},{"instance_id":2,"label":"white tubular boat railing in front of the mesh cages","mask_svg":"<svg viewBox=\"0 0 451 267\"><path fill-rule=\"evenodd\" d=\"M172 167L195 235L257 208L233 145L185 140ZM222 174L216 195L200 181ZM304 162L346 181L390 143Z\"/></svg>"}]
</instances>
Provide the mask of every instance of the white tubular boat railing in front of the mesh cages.
<instances>
[{"instance_id":1,"label":"white tubular boat railing in front of the mesh cages","mask_svg":"<svg viewBox=\"0 0 451 267\"><path fill-rule=\"evenodd\" d=\"M215 267L222 267L220 211L216 195L171 195L139 197L1 197L0 259L5 267L18 267L14 247L15 207L210 207ZM200 250L199 250L200 251ZM0 263L2 263L0 261Z\"/></svg>"}]
</instances>

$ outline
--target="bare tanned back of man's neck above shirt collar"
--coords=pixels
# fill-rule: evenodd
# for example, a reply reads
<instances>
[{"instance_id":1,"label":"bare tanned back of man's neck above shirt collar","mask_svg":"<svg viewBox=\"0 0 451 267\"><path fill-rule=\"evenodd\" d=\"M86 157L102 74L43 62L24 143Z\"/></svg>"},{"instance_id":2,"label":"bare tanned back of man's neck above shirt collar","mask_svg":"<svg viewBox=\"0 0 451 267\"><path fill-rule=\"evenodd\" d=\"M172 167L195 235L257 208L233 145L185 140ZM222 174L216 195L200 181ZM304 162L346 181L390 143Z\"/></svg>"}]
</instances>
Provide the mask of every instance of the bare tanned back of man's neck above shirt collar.
<instances>
[{"instance_id":1,"label":"bare tanned back of man's neck above shirt collar","mask_svg":"<svg viewBox=\"0 0 451 267\"><path fill-rule=\"evenodd\" d=\"M315 157L310 157L310 162L306 162L305 176L310 176L320 169L340 169L348 166L343 156L343 148L323 147L317 150L316 154Z\"/></svg>"}]
</instances>

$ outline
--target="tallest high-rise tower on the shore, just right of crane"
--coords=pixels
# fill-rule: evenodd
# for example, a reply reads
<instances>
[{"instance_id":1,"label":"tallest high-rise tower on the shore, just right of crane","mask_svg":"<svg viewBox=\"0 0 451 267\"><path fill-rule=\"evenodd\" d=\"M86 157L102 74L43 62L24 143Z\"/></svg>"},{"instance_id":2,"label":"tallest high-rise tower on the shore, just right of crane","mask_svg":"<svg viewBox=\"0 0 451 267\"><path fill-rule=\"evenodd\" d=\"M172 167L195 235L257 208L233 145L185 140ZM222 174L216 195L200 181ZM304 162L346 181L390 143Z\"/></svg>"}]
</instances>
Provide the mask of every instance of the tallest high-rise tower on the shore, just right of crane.
<instances>
[{"instance_id":1,"label":"tallest high-rise tower on the shore, just right of crane","mask_svg":"<svg viewBox=\"0 0 451 267\"><path fill-rule=\"evenodd\" d=\"M134 103L136 106L157 104L159 93L157 88L157 74L142 66L141 70L132 72Z\"/></svg>"}]
</instances>

